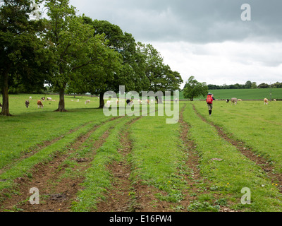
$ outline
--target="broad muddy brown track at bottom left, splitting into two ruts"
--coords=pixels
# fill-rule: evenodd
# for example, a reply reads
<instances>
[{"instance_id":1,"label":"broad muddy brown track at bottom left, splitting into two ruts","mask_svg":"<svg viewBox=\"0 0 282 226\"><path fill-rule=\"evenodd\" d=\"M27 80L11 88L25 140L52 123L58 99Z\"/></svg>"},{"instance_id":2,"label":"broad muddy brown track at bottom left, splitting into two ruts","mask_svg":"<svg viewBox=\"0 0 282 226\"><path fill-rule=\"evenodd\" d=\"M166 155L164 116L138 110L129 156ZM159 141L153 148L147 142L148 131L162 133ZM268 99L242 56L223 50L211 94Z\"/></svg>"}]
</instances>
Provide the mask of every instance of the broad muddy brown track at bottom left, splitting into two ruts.
<instances>
[{"instance_id":1,"label":"broad muddy brown track at bottom left, splitting into two ruts","mask_svg":"<svg viewBox=\"0 0 282 226\"><path fill-rule=\"evenodd\" d=\"M116 117L109 121L119 119ZM109 121L104 121L106 124ZM85 141L96 131L102 124L93 126L87 133L79 136L74 143L67 147L67 152L54 153L51 162L39 163L32 168L32 178L20 177L15 180L18 187L18 195L13 195L11 198L6 198L1 203L1 208L5 210L16 210L23 212L69 212L71 203L75 201L76 194L80 188L84 177L63 177L61 174L65 171L67 165L63 162L75 153ZM114 127L109 127L104 131L103 135L99 137L92 145L92 156L95 151L102 146L106 138L109 136L109 131ZM74 159L78 162L73 170L84 172L91 167L90 158ZM30 189L39 189L39 205L30 204Z\"/></svg>"}]
</instances>

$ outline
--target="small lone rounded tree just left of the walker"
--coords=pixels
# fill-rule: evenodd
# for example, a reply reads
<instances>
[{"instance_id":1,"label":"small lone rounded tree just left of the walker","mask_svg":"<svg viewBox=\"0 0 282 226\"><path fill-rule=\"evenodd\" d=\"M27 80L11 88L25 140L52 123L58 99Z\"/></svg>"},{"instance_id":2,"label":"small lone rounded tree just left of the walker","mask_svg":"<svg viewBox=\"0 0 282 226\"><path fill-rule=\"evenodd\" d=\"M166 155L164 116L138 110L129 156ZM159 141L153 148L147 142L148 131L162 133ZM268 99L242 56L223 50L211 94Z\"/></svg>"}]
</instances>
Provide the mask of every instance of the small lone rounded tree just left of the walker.
<instances>
[{"instance_id":1,"label":"small lone rounded tree just left of the walker","mask_svg":"<svg viewBox=\"0 0 282 226\"><path fill-rule=\"evenodd\" d=\"M190 76L184 86L183 96L191 101L196 97L206 96L208 93L208 86L206 83L198 82L194 76Z\"/></svg>"}]
</instances>

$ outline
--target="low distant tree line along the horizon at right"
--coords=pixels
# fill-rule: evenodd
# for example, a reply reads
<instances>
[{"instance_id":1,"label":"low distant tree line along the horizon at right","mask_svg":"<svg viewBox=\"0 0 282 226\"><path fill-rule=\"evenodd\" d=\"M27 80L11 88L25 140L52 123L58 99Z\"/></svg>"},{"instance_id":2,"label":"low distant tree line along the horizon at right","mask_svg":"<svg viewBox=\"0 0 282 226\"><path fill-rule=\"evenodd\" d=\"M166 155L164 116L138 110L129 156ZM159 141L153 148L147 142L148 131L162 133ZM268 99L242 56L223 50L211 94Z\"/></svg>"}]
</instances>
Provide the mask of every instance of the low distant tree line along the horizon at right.
<instances>
[{"instance_id":1,"label":"low distant tree line along the horizon at right","mask_svg":"<svg viewBox=\"0 0 282 226\"><path fill-rule=\"evenodd\" d=\"M282 88L282 83L276 82L273 84L261 83L257 85L256 82L247 81L245 84L233 84L233 85L207 85L209 90L223 90L223 89L265 89L265 88Z\"/></svg>"}]
</instances>

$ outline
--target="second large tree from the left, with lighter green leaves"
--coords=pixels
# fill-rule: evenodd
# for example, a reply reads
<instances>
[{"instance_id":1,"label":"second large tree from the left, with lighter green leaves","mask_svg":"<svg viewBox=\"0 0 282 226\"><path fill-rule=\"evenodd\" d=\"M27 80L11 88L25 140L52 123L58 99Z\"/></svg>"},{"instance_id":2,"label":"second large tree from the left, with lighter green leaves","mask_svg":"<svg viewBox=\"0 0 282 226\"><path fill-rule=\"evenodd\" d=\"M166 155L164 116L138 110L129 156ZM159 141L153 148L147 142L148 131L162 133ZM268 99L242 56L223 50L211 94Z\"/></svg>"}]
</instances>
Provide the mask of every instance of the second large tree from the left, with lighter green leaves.
<instances>
[{"instance_id":1,"label":"second large tree from the left, with lighter green leaves","mask_svg":"<svg viewBox=\"0 0 282 226\"><path fill-rule=\"evenodd\" d=\"M81 83L85 72L98 70L111 59L108 59L104 36L94 35L93 26L85 23L82 16L76 16L68 0L47 0L45 7L49 16L45 38L56 59L50 83L60 95L56 111L66 112L64 94L68 83ZM98 73L105 75L102 71Z\"/></svg>"}]
</instances>

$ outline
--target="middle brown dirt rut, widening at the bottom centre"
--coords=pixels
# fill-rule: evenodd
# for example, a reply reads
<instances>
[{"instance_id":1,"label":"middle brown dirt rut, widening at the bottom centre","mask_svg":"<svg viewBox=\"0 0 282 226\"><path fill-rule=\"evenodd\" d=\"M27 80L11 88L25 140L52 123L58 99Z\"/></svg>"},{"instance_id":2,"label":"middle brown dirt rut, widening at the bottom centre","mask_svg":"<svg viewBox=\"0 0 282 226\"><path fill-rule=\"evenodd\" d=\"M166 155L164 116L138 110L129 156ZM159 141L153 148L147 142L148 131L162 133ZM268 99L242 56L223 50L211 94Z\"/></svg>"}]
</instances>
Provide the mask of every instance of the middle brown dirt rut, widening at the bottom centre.
<instances>
[{"instance_id":1,"label":"middle brown dirt rut, widening at the bottom centre","mask_svg":"<svg viewBox=\"0 0 282 226\"><path fill-rule=\"evenodd\" d=\"M107 191L106 201L98 203L98 212L161 212L169 208L169 203L158 201L154 196L160 191L140 180L134 182L134 179L130 179L133 166L128 162L128 155L132 153L133 144L130 141L129 130L130 126L141 118L129 121L120 132L122 148L118 152L121 153L122 159L108 165L109 172L114 177L113 187Z\"/></svg>"}]
</instances>

